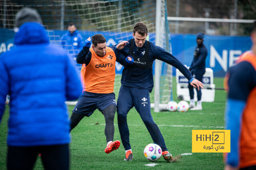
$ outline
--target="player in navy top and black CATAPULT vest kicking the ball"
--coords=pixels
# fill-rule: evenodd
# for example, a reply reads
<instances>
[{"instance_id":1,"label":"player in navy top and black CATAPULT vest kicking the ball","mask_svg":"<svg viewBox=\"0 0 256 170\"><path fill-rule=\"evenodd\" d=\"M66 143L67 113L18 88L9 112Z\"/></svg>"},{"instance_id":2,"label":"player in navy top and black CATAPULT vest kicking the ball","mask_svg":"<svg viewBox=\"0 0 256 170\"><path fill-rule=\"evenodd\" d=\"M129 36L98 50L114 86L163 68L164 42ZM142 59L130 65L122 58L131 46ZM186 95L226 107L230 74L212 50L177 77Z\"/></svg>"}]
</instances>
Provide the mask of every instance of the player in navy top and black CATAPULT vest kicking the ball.
<instances>
[{"instance_id":1,"label":"player in navy top and black CATAPULT vest kicking the ball","mask_svg":"<svg viewBox=\"0 0 256 170\"><path fill-rule=\"evenodd\" d=\"M193 78L190 71L173 55L146 41L148 29L144 23L136 23L132 35L134 39L122 41L116 46L116 49L128 56L126 59L132 58L134 60L132 65L124 67L121 78L122 85L117 100L118 128L126 152L124 160L132 160L133 158L126 117L128 111L135 106L154 143L162 148L164 159L171 162L172 154L168 152L164 138L153 121L150 111L149 93L154 86L152 64L155 59L172 64L184 74L192 86L199 90L200 87L203 88L203 85Z\"/></svg>"}]
</instances>

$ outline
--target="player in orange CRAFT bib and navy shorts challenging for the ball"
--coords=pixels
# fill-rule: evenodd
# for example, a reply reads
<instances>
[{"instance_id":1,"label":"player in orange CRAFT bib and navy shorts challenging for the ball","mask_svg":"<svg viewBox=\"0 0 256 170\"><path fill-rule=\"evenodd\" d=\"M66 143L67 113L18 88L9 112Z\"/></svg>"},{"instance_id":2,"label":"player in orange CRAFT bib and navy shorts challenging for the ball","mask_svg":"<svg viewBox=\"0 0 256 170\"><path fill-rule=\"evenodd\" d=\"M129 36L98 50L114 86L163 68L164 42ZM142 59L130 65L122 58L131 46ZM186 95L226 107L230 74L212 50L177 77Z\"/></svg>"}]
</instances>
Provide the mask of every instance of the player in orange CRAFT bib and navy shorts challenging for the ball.
<instances>
[{"instance_id":1,"label":"player in orange CRAFT bib and navy shorts challenging for the ball","mask_svg":"<svg viewBox=\"0 0 256 170\"><path fill-rule=\"evenodd\" d=\"M114 92L115 63L122 65L132 64L116 49L106 46L106 39L101 34L90 37L78 54L76 61L82 64L81 78L84 90L70 117L71 130L78 125L84 116L89 117L98 109L105 117L105 135L108 154L118 149L120 141L114 141L114 116L116 113L116 100Z\"/></svg>"}]
</instances>

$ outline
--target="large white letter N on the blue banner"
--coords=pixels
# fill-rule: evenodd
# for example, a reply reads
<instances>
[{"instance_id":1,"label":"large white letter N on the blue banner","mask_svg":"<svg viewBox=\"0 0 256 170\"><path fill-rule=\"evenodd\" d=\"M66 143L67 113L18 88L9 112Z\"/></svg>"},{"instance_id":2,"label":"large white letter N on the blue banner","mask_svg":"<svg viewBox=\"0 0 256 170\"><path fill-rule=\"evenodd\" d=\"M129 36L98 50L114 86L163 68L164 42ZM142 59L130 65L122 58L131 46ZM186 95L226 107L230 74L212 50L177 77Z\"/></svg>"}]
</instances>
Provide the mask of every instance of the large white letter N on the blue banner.
<instances>
[{"instance_id":1,"label":"large white letter N on the blue banner","mask_svg":"<svg viewBox=\"0 0 256 170\"><path fill-rule=\"evenodd\" d=\"M210 67L215 67L215 59L220 63L220 66L226 72L228 70L228 50L222 50L222 58L219 53L210 45Z\"/></svg>"}]
</instances>

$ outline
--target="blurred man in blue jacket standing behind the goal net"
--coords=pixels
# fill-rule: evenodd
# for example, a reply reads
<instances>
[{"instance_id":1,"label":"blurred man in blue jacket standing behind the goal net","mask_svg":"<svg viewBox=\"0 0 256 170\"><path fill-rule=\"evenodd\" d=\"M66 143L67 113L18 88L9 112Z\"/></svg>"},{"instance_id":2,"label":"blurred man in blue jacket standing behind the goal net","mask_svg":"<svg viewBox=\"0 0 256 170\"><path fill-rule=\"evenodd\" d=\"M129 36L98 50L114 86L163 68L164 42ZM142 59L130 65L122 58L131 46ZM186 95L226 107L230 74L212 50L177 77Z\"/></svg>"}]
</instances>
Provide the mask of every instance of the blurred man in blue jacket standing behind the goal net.
<instances>
[{"instance_id":1,"label":"blurred man in blue jacket standing behind the goal net","mask_svg":"<svg viewBox=\"0 0 256 170\"><path fill-rule=\"evenodd\" d=\"M76 55L83 49L85 42L82 35L76 30L74 22L68 24L68 32L62 35L61 45L76 60Z\"/></svg>"}]
</instances>

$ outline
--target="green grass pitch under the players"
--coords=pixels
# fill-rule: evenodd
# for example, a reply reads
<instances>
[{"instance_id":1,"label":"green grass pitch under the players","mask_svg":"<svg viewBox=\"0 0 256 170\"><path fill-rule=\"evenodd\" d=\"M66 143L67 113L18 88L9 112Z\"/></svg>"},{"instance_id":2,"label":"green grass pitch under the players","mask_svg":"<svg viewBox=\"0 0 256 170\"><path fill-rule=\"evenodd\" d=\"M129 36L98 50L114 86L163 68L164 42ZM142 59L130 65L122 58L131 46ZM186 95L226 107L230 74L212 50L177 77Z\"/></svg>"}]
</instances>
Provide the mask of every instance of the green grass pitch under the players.
<instances>
[{"instance_id":1,"label":"green grass pitch under the players","mask_svg":"<svg viewBox=\"0 0 256 170\"><path fill-rule=\"evenodd\" d=\"M173 81L175 82L175 81ZM223 78L214 78L216 87L223 88ZM176 100L176 86L174 85L174 101ZM151 94L152 97L153 93ZM117 96L117 95L116 95ZM117 98L116 98L117 99ZM226 93L216 90L215 101L202 103L203 110L187 111L185 113L162 111L154 113L152 117L165 139L166 147L173 156L180 156L177 162L167 163L163 158L154 162L154 167L144 157L144 147L153 143L138 112L133 108L127 116L130 131L130 144L134 159L124 161L125 151L122 143L120 148L106 154L106 137L104 135L105 120L102 113L96 110L90 117L84 117L72 132L70 144L70 169L223 169L222 153L192 153L192 129L224 129L224 109ZM153 101L151 99L151 101ZM70 114L74 106L68 106ZM8 106L6 107L2 123L0 124L0 169L6 169L6 134L8 120ZM120 140L115 115L114 140ZM187 154L187 155L182 155ZM54 160L53 160L54 162ZM43 169L38 157L34 169Z\"/></svg>"}]
</instances>

